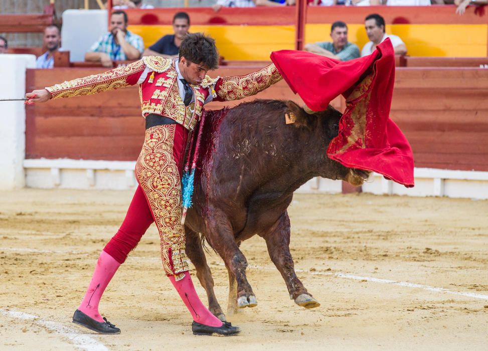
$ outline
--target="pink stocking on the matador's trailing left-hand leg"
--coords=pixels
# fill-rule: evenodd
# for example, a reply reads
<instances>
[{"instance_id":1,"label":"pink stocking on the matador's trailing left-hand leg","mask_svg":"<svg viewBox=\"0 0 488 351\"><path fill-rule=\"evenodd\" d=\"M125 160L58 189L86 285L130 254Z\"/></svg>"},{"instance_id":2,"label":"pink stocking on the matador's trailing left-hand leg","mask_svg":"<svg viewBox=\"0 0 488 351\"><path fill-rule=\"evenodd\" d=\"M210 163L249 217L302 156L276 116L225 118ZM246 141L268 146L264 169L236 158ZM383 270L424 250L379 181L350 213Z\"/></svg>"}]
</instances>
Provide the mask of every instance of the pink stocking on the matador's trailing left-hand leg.
<instances>
[{"instance_id":1,"label":"pink stocking on the matador's trailing left-hand leg","mask_svg":"<svg viewBox=\"0 0 488 351\"><path fill-rule=\"evenodd\" d=\"M81 301L80 307L78 307L80 311L99 322L104 322L102 316L98 313L98 303L100 302L100 298L102 297L105 288L119 266L120 263L112 256L105 251L101 252L88 290L86 291L83 301Z\"/></svg>"}]
</instances>

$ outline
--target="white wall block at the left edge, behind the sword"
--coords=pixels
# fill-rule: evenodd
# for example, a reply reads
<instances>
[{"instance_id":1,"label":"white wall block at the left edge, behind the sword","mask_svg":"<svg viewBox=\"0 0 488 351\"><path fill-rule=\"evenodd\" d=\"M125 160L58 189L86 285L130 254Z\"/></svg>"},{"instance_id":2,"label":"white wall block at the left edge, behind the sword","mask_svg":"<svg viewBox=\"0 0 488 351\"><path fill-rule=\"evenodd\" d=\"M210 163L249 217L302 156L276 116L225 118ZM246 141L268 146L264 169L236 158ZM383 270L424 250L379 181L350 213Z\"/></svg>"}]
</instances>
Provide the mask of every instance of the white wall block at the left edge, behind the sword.
<instances>
[{"instance_id":1,"label":"white wall block at the left edge, behind the sword","mask_svg":"<svg viewBox=\"0 0 488 351\"><path fill-rule=\"evenodd\" d=\"M23 98L26 69L36 67L34 55L0 55L0 99ZM0 189L25 185L26 109L23 101L0 101Z\"/></svg>"}]
</instances>

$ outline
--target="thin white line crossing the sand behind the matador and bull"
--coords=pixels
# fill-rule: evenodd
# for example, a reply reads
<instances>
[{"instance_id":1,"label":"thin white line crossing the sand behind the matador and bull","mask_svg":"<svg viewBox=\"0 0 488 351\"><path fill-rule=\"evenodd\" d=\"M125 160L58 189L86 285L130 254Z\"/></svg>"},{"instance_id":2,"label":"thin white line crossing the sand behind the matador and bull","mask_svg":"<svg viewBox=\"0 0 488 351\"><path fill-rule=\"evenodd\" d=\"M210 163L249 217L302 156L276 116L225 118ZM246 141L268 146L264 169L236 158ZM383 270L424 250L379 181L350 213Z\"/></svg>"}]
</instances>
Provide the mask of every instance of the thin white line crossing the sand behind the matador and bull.
<instances>
[{"instance_id":1,"label":"thin white line crossing the sand behind the matador and bull","mask_svg":"<svg viewBox=\"0 0 488 351\"><path fill-rule=\"evenodd\" d=\"M42 252L42 253L71 253L71 254L83 254L81 252L75 252L75 251L50 251L50 250L38 250L38 249L18 249L18 248L0 248L0 251L17 251L17 252ZM132 259L136 260L159 260L159 258L152 258L152 257L136 257L136 256L131 256ZM219 263L220 266L224 266L224 263ZM261 269L261 270L275 270L275 267L263 267L263 266L255 266L255 265L249 265L249 269ZM354 274L349 274L349 273L332 273L332 272L311 272L307 271L304 269L295 269L295 272L300 272L300 273L310 273L314 275L334 275L336 277L340 278L346 278L346 279L354 279L354 280L366 280L366 281L371 281L375 283L381 283L381 284L391 284L391 285L398 285L398 286L405 286L409 288L418 288L418 289L424 289L424 290L429 290L433 292L443 292L446 294L452 294L452 295L460 295L460 296L467 296L467 297L473 297L473 298L479 298L482 300L488 300L488 295L483 295L483 294L477 294L474 292L464 292L464 291L453 291L453 290L448 290L445 288L438 288L435 286L429 286L429 285L422 285L422 284L415 284L415 283L409 283L405 281L396 281L396 280L389 280L389 279L380 279L380 278L372 278L372 277L363 277L359 275L354 275Z\"/></svg>"}]
</instances>

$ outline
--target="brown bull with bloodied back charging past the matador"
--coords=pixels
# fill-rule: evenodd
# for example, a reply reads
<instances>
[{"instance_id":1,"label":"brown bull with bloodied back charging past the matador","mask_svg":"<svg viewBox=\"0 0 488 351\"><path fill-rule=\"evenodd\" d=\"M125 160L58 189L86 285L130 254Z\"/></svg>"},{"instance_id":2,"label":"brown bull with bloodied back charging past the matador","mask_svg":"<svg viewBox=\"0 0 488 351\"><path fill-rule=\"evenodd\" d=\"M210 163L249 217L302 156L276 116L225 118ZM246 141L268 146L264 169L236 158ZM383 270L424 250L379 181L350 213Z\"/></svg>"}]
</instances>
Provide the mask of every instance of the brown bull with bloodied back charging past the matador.
<instances>
[{"instance_id":1,"label":"brown bull with bloodied back charging past the matador","mask_svg":"<svg viewBox=\"0 0 488 351\"><path fill-rule=\"evenodd\" d=\"M285 114L294 123L286 124ZM256 234L266 241L295 303L305 308L320 305L294 271L287 208L293 192L313 177L360 185L367 176L327 157L340 117L331 106L309 115L294 102L279 100L206 111L200 125L194 205L185 221L186 252L207 292L209 309L220 319L225 315L215 297L203 238L228 270L229 313L257 305L246 278L247 260L239 250L241 242Z\"/></svg>"}]
</instances>

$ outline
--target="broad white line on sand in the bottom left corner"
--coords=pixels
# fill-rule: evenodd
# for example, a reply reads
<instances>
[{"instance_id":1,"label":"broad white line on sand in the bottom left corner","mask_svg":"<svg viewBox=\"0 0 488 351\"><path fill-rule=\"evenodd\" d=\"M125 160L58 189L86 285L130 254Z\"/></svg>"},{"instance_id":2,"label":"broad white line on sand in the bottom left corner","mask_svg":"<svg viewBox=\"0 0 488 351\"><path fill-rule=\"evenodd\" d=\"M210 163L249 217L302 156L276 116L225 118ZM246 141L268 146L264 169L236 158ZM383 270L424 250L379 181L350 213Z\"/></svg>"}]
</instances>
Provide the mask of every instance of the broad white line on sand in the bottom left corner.
<instances>
[{"instance_id":1,"label":"broad white line on sand in the bottom left corner","mask_svg":"<svg viewBox=\"0 0 488 351\"><path fill-rule=\"evenodd\" d=\"M68 328L61 323L42 320L39 319L39 316L21 311L11 311L0 308L0 313L15 319L32 320L34 323L60 334L62 338L67 339L71 344L73 344L73 346L79 349L87 351L108 351L108 348L105 347L103 343L94 339L92 336L83 334L75 329Z\"/></svg>"}]
</instances>

